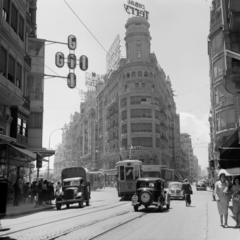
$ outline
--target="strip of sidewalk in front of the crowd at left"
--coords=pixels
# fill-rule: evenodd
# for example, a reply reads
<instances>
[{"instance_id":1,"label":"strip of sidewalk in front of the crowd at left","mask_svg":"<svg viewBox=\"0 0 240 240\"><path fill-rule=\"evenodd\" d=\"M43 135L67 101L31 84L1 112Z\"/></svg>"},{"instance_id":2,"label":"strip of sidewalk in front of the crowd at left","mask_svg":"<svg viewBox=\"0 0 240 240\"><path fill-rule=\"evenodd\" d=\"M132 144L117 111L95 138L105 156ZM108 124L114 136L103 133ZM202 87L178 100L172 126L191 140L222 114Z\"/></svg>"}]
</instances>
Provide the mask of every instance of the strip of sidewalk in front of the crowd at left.
<instances>
[{"instance_id":1,"label":"strip of sidewalk in front of the crowd at left","mask_svg":"<svg viewBox=\"0 0 240 240\"><path fill-rule=\"evenodd\" d=\"M5 218L19 216L23 214L30 214L34 212L41 212L53 208L55 208L55 204L35 207L35 203L20 202L19 206L13 206L12 203L11 204L9 203L7 205L7 215Z\"/></svg>"}]
</instances>

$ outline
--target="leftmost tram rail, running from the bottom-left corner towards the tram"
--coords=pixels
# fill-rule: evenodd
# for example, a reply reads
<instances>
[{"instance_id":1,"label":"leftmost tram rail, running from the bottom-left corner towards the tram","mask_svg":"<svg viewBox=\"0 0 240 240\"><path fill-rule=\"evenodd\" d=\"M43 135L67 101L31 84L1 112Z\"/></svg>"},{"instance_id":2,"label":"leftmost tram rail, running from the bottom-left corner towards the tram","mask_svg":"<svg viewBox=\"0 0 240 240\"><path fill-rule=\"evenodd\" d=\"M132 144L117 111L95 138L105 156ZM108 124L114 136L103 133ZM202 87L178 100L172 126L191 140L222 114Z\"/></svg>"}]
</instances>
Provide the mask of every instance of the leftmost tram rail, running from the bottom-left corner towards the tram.
<instances>
[{"instance_id":1,"label":"leftmost tram rail, running from the bottom-left corner towards the tram","mask_svg":"<svg viewBox=\"0 0 240 240\"><path fill-rule=\"evenodd\" d=\"M121 207L121 206L126 205L126 204L129 204L129 202L126 202L126 203L123 203L123 204L119 204L117 206L111 206L111 207L108 207L108 208L99 209L97 211L86 212L86 213L83 213L83 214L78 214L78 215L74 215L74 216L70 216L70 217L66 217L66 218L62 218L62 219L58 219L58 220L54 220L54 221L50 221L50 222L45 222L45 223L34 225L34 226L31 226L31 227L22 228L22 229L19 229L19 230L16 230L16 231L10 231L10 232L7 232L5 234L1 234L0 237L9 236L11 234L20 233L20 232L23 232L23 231L26 231L26 230L37 228L37 227L42 227L42 226L45 226L45 225L50 225L50 224L53 224L53 223L66 221L66 220L71 220L73 218L77 218L77 217L81 217L81 216L94 214L94 213L97 213L97 212L101 212L101 211L105 211L105 210ZM47 239L49 239L49 238L47 238Z\"/></svg>"}]
</instances>

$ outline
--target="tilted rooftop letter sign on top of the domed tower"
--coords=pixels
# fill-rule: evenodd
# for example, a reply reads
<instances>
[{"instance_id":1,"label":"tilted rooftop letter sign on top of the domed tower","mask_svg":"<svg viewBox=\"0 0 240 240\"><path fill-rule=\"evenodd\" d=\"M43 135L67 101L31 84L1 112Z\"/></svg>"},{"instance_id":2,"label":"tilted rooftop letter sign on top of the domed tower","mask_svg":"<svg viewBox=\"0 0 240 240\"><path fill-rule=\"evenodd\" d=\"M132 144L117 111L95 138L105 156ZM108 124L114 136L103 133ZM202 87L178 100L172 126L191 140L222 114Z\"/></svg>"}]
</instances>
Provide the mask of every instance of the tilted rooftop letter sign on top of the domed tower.
<instances>
[{"instance_id":1,"label":"tilted rooftop letter sign on top of the domed tower","mask_svg":"<svg viewBox=\"0 0 240 240\"><path fill-rule=\"evenodd\" d=\"M145 10L145 6L141 3L134 2L134 1L127 1L127 4L123 4L125 11L128 14L133 14L137 17L143 17L147 20L149 19L149 12Z\"/></svg>"}]
</instances>

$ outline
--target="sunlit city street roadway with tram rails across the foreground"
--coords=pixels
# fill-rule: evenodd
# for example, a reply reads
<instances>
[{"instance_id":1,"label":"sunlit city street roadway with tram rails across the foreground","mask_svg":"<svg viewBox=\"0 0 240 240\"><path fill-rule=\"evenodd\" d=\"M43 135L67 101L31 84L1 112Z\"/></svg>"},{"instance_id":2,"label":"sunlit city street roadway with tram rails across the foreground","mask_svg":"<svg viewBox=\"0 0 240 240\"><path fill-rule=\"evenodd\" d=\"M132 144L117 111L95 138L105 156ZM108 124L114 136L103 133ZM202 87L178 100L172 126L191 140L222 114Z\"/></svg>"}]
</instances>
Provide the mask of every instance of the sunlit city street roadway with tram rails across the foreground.
<instances>
[{"instance_id":1,"label":"sunlit city street roadway with tram rails across the foreground","mask_svg":"<svg viewBox=\"0 0 240 240\"><path fill-rule=\"evenodd\" d=\"M171 239L221 240L240 239L229 209L228 228L220 226L212 193L194 191L192 206L172 200L169 210L157 212L153 207L134 212L130 201L119 201L115 188L92 192L89 207L72 205L2 220L10 231L0 239Z\"/></svg>"}]
</instances>

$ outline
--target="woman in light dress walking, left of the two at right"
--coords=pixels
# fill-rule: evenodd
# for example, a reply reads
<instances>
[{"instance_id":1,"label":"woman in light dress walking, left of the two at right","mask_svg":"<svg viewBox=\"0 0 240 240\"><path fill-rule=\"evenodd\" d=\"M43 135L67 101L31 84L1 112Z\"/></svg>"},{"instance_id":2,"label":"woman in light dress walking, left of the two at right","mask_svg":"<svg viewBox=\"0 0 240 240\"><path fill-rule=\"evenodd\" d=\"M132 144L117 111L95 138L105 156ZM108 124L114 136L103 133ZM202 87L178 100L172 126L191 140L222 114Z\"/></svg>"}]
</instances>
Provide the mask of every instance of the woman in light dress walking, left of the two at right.
<instances>
[{"instance_id":1,"label":"woman in light dress walking, left of the two at right","mask_svg":"<svg viewBox=\"0 0 240 240\"><path fill-rule=\"evenodd\" d=\"M221 173L219 176L219 181L215 183L215 199L217 201L218 213L220 215L221 226L228 227L228 206L230 200L230 194L228 191L228 182L226 181L226 176ZM224 216L224 225L223 225Z\"/></svg>"}]
</instances>

